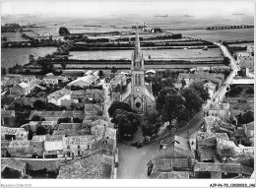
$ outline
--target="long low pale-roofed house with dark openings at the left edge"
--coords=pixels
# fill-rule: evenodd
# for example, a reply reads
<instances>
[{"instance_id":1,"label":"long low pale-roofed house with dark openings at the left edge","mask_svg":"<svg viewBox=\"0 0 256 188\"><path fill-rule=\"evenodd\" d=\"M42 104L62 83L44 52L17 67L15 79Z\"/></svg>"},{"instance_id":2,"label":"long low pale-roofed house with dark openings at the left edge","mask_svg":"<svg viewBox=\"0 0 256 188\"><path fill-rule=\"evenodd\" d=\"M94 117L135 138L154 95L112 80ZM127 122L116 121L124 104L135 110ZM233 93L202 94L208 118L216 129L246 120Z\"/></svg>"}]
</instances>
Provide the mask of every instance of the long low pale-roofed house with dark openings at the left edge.
<instances>
[{"instance_id":1,"label":"long low pale-roofed house with dark openings at the left edge","mask_svg":"<svg viewBox=\"0 0 256 188\"><path fill-rule=\"evenodd\" d=\"M1 126L1 140L27 140L28 134L24 128Z\"/></svg>"}]
</instances>

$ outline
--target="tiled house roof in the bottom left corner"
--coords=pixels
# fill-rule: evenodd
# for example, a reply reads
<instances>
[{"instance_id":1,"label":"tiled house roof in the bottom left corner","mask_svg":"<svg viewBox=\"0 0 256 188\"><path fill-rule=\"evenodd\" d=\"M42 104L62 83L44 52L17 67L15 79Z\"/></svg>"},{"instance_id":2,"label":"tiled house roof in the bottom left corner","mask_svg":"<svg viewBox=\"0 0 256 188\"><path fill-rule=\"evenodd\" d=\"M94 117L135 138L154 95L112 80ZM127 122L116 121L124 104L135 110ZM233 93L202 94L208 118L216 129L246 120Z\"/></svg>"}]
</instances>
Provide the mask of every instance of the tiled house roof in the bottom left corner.
<instances>
[{"instance_id":1,"label":"tiled house roof in the bottom left corner","mask_svg":"<svg viewBox=\"0 0 256 188\"><path fill-rule=\"evenodd\" d=\"M6 167L11 169L16 169L18 171L24 171L27 163L21 160L17 160L15 158L1 158L1 171L3 171Z\"/></svg>"}]
</instances>

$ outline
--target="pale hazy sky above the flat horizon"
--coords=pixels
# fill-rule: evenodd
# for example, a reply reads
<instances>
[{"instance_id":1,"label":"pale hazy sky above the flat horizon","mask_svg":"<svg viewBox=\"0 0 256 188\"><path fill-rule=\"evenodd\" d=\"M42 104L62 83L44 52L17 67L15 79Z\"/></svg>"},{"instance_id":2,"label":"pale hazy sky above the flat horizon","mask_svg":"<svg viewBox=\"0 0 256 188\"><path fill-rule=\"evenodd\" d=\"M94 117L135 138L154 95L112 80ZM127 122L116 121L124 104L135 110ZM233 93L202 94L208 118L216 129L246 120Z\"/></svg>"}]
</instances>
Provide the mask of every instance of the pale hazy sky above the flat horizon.
<instances>
[{"instance_id":1,"label":"pale hazy sky above the flat horizon","mask_svg":"<svg viewBox=\"0 0 256 188\"><path fill-rule=\"evenodd\" d=\"M1 0L2 14L65 15L79 17L129 14L195 17L254 15L253 0Z\"/></svg>"}]
</instances>

